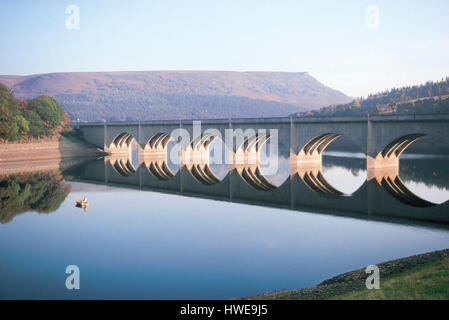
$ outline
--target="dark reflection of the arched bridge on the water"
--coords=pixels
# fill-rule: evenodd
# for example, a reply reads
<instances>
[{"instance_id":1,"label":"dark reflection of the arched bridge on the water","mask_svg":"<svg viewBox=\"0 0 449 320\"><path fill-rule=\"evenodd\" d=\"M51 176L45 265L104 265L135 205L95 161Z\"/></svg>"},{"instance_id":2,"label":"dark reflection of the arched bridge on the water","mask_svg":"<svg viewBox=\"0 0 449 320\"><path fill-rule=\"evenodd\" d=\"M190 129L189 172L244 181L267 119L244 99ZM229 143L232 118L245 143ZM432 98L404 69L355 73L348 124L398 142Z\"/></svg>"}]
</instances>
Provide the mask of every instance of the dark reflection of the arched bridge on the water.
<instances>
[{"instance_id":1,"label":"dark reflection of the arched bridge on the water","mask_svg":"<svg viewBox=\"0 0 449 320\"><path fill-rule=\"evenodd\" d=\"M343 195L326 181L320 170L293 171L281 186L264 191L247 183L237 169L230 171L218 183L203 184L187 167L181 168L172 178L161 180L152 174L145 163L141 163L133 175L125 176L115 169L115 161L113 157L107 157L91 162L83 167L79 178L108 185L304 212L378 220L403 218L449 223L449 202L432 205L413 195L399 176L389 175L388 172L385 172L385 176L379 175L365 181L352 195Z\"/></svg>"}]
</instances>

